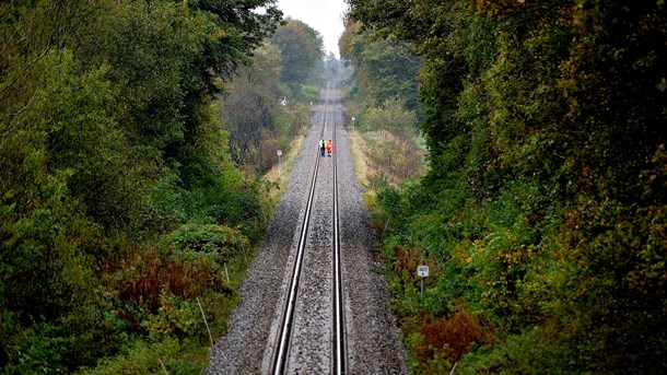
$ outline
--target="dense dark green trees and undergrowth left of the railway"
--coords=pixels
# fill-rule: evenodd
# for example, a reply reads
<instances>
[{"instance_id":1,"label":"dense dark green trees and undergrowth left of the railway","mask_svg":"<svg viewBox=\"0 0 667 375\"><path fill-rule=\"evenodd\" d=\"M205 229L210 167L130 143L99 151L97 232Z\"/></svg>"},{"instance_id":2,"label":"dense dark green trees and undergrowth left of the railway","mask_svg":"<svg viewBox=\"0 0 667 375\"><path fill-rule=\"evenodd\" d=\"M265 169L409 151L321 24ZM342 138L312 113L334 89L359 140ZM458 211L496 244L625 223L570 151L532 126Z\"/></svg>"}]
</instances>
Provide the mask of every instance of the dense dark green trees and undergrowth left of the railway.
<instances>
[{"instance_id":1,"label":"dense dark green trees and undergrowth left of the railway","mask_svg":"<svg viewBox=\"0 0 667 375\"><path fill-rule=\"evenodd\" d=\"M264 218L214 95L280 16L266 0L0 3L2 373L206 364L200 308L220 335Z\"/></svg>"}]
</instances>

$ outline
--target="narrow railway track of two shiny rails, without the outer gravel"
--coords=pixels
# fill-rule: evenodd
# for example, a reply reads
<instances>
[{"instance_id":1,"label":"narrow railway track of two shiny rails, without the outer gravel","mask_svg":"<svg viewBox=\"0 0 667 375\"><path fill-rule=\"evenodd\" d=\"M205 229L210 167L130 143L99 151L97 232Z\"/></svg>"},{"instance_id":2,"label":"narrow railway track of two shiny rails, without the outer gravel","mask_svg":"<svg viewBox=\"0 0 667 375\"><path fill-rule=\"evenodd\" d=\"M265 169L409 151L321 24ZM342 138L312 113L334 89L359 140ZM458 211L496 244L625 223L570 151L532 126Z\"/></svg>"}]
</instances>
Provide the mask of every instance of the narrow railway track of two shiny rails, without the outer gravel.
<instances>
[{"instance_id":1,"label":"narrow railway track of two shiny rails, without the outer gravel","mask_svg":"<svg viewBox=\"0 0 667 375\"><path fill-rule=\"evenodd\" d=\"M335 92L336 84L332 82L327 83L325 92ZM342 110L340 107L340 101L338 99L337 93L335 93L335 98L326 98L324 99L324 105L320 108L320 121L319 121L319 138L320 139L331 139L334 144L336 144L336 127L338 122L340 122L340 118L342 117L340 112ZM330 136L330 137L328 137ZM315 148L314 148L315 149ZM340 238L339 238L339 222L338 222L338 172L337 172L337 157L336 152L332 155L320 157L319 151L314 155L314 169L313 176L311 179L311 188L306 201L306 208L304 211L304 215L302 219L301 232L299 235L299 244L296 246L296 253L293 259L293 263L291 267L291 274L289 277L289 284L286 288L286 296L284 298L284 304L282 307L282 312L280 314L280 325L278 327L278 332L274 337L274 342L269 342L269 345L273 345L272 356L271 356L271 368L270 372L272 374L285 374L290 372L295 372L295 370L290 370L291 362L299 366L300 353L294 353L295 351L295 329L297 319L302 320L311 320L311 319L323 319L323 316L306 316L304 314L305 309L300 309L299 304L307 304L308 302L302 302L304 298L303 294L307 292L304 291L304 273L305 272L317 272L317 270L311 270L304 268L306 255L309 250L313 250L314 247L317 247L317 244L314 244L312 241L308 241L314 234L309 233L309 231L317 230L317 225L313 225L314 215L314 204L316 201L316 195L318 191L321 191L321 187L318 189L318 183L321 183L325 178L330 178L331 191L330 196L326 194L329 199L331 211L330 211L330 220L328 227L325 228L324 232L327 233L327 236L330 239L330 282L324 285L319 285L320 294L330 293L330 308L318 309L318 313L323 310L330 313L329 321L330 321L330 330L329 336L330 339L328 342L330 343L329 353L319 353L316 355L318 358L330 356L329 360L329 370L330 374L344 374L346 365L347 365L347 344L346 344L346 323L344 323L344 295L343 295L343 280L342 280L342 260L341 260L341 250L340 250ZM326 164L326 165L325 165ZM326 176L326 177L324 177ZM321 200L320 200L321 201ZM321 202L319 203L321 204ZM321 215L321 214L320 214ZM325 214L326 216L326 214ZM319 227L321 228L321 227ZM323 288L330 285L330 290L323 291ZM300 315L301 314L301 315ZM326 314L325 314L326 315ZM317 333L314 333L317 336ZM271 340L270 340L271 341ZM302 347L311 347L307 342L301 343ZM317 348L317 344L312 347ZM319 345L320 348L323 345ZM326 345L324 345L326 347ZM292 360L292 361L291 361ZM320 361L323 362L323 361ZM307 367L312 368L312 364L306 364ZM324 370L324 368L323 368Z\"/></svg>"}]
</instances>

